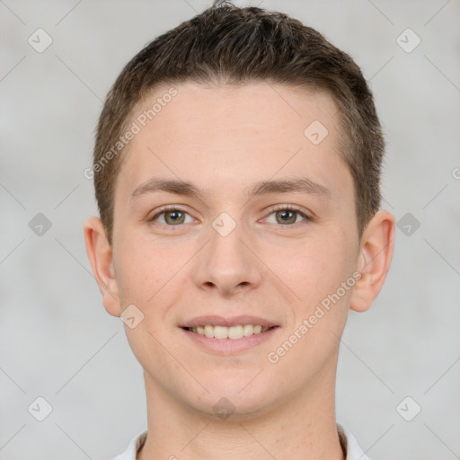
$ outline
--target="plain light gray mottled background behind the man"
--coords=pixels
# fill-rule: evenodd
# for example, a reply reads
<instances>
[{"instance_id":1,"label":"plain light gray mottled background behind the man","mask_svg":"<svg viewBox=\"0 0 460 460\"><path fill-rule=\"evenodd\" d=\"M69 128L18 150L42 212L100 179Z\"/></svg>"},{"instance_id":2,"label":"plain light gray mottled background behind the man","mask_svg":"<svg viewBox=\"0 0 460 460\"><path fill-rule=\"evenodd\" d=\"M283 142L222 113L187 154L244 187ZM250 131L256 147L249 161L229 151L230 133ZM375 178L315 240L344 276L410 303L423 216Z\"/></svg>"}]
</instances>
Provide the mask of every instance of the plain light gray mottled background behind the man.
<instances>
[{"instance_id":1,"label":"plain light gray mottled background behind the man","mask_svg":"<svg viewBox=\"0 0 460 460\"><path fill-rule=\"evenodd\" d=\"M1 459L107 458L146 427L142 369L84 250L96 207L83 172L122 66L210 3L0 1ZM388 144L385 208L411 213L383 292L349 316L338 420L375 460L460 458L460 3L260 5L323 32L362 67ZM53 40L42 53L28 43L38 28ZM415 43L407 28L421 40L411 52L400 46ZM41 236L29 226L38 213L52 225ZM53 408L41 422L28 411L39 396ZM396 410L406 396L406 418L421 407L411 421Z\"/></svg>"}]
</instances>

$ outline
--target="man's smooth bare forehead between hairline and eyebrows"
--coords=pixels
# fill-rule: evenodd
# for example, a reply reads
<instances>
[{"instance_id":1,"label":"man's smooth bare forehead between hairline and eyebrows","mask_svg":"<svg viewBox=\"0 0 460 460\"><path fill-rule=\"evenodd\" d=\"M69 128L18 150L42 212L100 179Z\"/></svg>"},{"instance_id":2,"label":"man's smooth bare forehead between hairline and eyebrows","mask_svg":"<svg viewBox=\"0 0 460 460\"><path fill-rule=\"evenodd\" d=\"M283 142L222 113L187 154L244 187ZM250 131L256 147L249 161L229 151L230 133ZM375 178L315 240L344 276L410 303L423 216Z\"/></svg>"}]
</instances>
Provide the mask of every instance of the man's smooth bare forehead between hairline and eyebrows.
<instances>
[{"instance_id":1,"label":"man's smooth bare forehead between hairline and eyebrows","mask_svg":"<svg viewBox=\"0 0 460 460\"><path fill-rule=\"evenodd\" d=\"M166 97L172 87L175 95ZM164 86L129 120L139 130L123 154L120 187L125 194L164 173L222 189L302 170L333 190L349 180L335 177L347 175L338 154L339 122L325 92L267 83Z\"/></svg>"}]
</instances>

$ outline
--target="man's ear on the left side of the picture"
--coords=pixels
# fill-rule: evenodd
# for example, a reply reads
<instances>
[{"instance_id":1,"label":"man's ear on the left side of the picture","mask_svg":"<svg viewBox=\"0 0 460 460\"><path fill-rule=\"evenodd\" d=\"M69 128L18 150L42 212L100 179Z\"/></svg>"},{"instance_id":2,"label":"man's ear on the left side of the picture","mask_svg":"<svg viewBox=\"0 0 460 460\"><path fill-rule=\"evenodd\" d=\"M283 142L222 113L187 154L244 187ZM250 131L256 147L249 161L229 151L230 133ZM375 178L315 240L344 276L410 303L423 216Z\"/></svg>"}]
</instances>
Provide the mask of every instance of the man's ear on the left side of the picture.
<instances>
[{"instance_id":1,"label":"man's ear on the left side of the picture","mask_svg":"<svg viewBox=\"0 0 460 460\"><path fill-rule=\"evenodd\" d=\"M119 289L113 270L112 249L100 218L89 217L84 222L84 243L94 278L102 292L103 305L107 312L119 316Z\"/></svg>"}]
</instances>

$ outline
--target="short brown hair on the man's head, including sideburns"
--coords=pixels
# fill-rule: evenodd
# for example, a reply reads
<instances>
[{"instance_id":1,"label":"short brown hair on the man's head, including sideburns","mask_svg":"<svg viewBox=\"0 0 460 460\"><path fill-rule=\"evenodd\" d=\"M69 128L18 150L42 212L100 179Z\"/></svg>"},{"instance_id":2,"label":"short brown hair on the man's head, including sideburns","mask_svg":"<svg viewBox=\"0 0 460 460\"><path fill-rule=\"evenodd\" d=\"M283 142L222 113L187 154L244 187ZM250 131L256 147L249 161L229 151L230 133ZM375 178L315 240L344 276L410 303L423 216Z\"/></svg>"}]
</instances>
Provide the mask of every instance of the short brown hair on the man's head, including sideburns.
<instances>
[{"instance_id":1,"label":"short brown hair on the man's head, including sideburns","mask_svg":"<svg viewBox=\"0 0 460 460\"><path fill-rule=\"evenodd\" d=\"M353 177L358 234L362 234L380 207L385 141L359 67L321 33L286 14L224 2L150 42L123 68L107 95L97 127L93 178L110 243L122 156L113 153L113 146L143 96L162 84L257 81L305 86L332 95L341 114L341 155ZM110 151L111 161L104 162Z\"/></svg>"}]
</instances>

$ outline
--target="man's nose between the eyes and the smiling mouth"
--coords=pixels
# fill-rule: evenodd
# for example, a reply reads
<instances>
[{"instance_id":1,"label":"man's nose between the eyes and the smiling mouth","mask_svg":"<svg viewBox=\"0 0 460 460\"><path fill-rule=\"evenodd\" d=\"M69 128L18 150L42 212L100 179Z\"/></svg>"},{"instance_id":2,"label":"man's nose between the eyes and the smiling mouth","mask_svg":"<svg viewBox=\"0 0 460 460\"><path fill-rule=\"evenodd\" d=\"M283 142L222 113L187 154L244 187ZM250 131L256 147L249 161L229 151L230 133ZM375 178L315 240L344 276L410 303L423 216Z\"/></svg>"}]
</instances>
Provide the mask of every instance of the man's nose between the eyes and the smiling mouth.
<instances>
[{"instance_id":1,"label":"man's nose between the eyes and the smiling mouth","mask_svg":"<svg viewBox=\"0 0 460 460\"><path fill-rule=\"evenodd\" d=\"M229 234L209 228L209 241L199 252L193 281L200 289L217 291L221 296L248 292L261 284L261 261L254 254L251 238L236 225Z\"/></svg>"}]
</instances>

